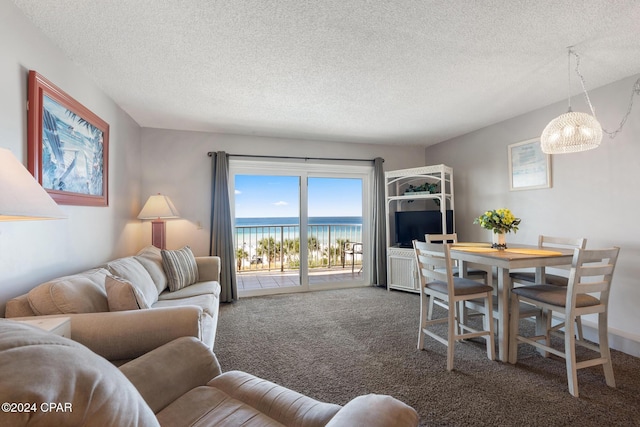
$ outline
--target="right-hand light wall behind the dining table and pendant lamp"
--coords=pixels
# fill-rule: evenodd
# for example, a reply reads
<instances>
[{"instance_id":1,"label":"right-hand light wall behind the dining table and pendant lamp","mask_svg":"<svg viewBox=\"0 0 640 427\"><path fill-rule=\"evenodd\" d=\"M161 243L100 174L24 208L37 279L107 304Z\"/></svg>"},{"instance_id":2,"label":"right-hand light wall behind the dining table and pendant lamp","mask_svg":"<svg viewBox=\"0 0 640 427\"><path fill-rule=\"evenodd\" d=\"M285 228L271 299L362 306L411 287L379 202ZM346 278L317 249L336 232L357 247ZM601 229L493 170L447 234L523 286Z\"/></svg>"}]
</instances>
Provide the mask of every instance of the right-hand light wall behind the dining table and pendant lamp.
<instances>
[{"instance_id":1,"label":"right-hand light wall behind the dining table and pendant lamp","mask_svg":"<svg viewBox=\"0 0 640 427\"><path fill-rule=\"evenodd\" d=\"M602 126L617 129L638 76L590 91ZM615 348L640 356L640 97L622 133L591 151L552 156L553 187L509 191L507 146L538 137L566 112L566 102L480 129L426 149L427 164L454 169L456 227L461 239L489 240L473 219L488 209L510 208L522 218L507 242L534 243L538 234L586 237L588 248L619 246L609 307ZM589 111L584 98L574 111ZM490 108L488 106L487 108ZM591 319L593 320L593 319ZM625 339L622 339L625 338Z\"/></svg>"}]
</instances>

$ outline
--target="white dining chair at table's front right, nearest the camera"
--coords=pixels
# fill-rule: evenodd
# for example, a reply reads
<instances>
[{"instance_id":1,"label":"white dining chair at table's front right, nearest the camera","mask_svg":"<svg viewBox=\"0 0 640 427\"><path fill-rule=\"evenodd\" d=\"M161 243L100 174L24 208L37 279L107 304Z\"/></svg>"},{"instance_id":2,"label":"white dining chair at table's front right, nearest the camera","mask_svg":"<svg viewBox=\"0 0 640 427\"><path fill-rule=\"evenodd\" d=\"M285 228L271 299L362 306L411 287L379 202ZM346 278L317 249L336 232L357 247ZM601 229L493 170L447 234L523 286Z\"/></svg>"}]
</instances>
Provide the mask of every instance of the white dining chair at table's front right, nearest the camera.
<instances>
[{"instance_id":1,"label":"white dining chair at table's front right, nearest the camera","mask_svg":"<svg viewBox=\"0 0 640 427\"><path fill-rule=\"evenodd\" d=\"M549 316L553 312L563 314L564 322L547 328L544 335L527 337L520 335L518 316L512 316L509 326L510 363L515 364L518 361L518 343L524 342L565 359L569 393L572 396L578 397L577 370L590 366L602 365L607 385L616 386L609 351L607 315L611 280L619 252L618 247L593 250L576 248L567 286L542 284L513 289L512 313L517 313L519 303L525 301L541 307ZM598 314L598 345L582 338L576 339L575 320L585 314ZM551 335L558 333L562 328L564 328L564 351L554 348L551 343ZM578 362L576 345L595 351L598 353L597 357L582 359Z\"/></svg>"}]
</instances>

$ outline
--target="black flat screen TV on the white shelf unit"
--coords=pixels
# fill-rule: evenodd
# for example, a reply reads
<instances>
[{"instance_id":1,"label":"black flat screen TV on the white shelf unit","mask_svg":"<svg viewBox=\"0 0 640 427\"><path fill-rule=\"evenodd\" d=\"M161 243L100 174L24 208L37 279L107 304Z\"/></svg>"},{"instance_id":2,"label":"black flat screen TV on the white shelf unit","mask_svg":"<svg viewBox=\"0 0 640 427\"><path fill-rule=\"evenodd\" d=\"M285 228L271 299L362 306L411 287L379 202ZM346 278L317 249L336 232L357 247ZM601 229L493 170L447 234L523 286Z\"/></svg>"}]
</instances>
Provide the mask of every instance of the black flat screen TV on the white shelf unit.
<instances>
[{"instance_id":1,"label":"black flat screen TV on the white shelf unit","mask_svg":"<svg viewBox=\"0 0 640 427\"><path fill-rule=\"evenodd\" d=\"M424 242L425 234L442 234L440 211L396 212L396 243L401 248L413 247L413 240ZM447 210L447 234L453 233L453 210Z\"/></svg>"}]
</instances>

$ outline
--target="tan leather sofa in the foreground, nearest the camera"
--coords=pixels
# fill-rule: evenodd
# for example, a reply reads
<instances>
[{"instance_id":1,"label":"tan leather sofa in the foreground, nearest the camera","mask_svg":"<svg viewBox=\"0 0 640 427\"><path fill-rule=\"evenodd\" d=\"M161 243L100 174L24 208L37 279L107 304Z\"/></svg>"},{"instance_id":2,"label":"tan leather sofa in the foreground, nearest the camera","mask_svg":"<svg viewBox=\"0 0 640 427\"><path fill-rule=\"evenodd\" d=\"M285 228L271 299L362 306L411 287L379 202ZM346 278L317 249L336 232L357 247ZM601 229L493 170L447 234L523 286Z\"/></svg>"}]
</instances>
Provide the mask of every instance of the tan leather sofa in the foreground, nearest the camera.
<instances>
[{"instance_id":1,"label":"tan leather sofa in the foreground, nearest the camera","mask_svg":"<svg viewBox=\"0 0 640 427\"><path fill-rule=\"evenodd\" d=\"M0 319L2 426L417 426L386 395L324 403L241 371L222 372L194 337L117 368L85 346Z\"/></svg>"}]
</instances>

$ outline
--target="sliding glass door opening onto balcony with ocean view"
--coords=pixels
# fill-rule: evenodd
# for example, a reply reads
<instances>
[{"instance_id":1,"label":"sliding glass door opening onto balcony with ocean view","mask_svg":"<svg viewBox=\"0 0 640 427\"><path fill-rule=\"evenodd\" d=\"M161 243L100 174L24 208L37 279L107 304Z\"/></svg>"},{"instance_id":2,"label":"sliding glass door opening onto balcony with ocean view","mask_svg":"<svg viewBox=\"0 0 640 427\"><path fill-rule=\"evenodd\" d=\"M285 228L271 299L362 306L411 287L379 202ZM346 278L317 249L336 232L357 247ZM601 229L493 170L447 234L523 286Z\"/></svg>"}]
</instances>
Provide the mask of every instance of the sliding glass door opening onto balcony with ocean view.
<instances>
[{"instance_id":1,"label":"sliding glass door opening onto balcony with ocean view","mask_svg":"<svg viewBox=\"0 0 640 427\"><path fill-rule=\"evenodd\" d=\"M240 296L370 282L372 167L230 162Z\"/></svg>"}]
</instances>

